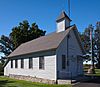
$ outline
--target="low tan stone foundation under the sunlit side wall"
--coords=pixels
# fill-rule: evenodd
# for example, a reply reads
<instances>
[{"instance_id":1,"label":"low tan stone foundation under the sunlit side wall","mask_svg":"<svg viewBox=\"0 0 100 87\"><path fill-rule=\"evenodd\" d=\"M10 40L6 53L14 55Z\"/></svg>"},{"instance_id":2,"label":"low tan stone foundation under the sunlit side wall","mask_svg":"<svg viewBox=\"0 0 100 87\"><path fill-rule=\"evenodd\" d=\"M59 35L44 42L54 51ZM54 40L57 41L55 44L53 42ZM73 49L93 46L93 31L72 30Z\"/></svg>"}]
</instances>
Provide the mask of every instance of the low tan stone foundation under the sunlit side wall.
<instances>
[{"instance_id":1,"label":"low tan stone foundation under the sunlit side wall","mask_svg":"<svg viewBox=\"0 0 100 87\"><path fill-rule=\"evenodd\" d=\"M42 79L42 78L37 78L37 77L31 77L31 76L10 74L9 77L18 79L18 80L26 80L26 81L40 82L40 83L46 83L46 84L56 84L55 80L48 80L48 79Z\"/></svg>"}]
</instances>

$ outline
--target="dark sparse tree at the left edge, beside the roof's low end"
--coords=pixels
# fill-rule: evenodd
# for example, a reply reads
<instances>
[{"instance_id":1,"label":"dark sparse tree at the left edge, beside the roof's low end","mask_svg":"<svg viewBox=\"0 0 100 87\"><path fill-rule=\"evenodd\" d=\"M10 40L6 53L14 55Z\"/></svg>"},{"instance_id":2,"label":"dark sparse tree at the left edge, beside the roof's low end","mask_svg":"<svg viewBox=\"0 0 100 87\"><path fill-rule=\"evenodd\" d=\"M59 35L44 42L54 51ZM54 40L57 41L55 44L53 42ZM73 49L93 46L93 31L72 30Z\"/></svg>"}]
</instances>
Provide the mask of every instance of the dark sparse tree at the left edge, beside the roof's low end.
<instances>
[{"instance_id":1,"label":"dark sparse tree at the left edge, beside the roof's low end","mask_svg":"<svg viewBox=\"0 0 100 87\"><path fill-rule=\"evenodd\" d=\"M0 38L0 52L4 53L5 57L1 56L0 59L0 74L3 72L3 65L7 60L6 56L8 56L13 50L13 43L11 39L5 35L2 35Z\"/></svg>"}]
</instances>

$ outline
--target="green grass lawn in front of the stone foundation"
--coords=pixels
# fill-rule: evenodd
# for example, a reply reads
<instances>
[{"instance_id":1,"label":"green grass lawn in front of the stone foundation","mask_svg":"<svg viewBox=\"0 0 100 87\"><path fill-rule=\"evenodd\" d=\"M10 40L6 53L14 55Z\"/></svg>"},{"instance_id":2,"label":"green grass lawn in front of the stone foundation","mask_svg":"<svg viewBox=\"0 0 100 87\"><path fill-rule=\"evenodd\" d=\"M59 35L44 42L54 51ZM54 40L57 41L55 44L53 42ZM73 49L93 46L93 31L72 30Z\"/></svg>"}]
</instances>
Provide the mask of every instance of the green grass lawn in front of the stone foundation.
<instances>
[{"instance_id":1,"label":"green grass lawn in front of the stone foundation","mask_svg":"<svg viewBox=\"0 0 100 87\"><path fill-rule=\"evenodd\" d=\"M71 87L71 85L49 85L42 83L33 83L30 81L15 80L0 76L0 87Z\"/></svg>"}]
</instances>

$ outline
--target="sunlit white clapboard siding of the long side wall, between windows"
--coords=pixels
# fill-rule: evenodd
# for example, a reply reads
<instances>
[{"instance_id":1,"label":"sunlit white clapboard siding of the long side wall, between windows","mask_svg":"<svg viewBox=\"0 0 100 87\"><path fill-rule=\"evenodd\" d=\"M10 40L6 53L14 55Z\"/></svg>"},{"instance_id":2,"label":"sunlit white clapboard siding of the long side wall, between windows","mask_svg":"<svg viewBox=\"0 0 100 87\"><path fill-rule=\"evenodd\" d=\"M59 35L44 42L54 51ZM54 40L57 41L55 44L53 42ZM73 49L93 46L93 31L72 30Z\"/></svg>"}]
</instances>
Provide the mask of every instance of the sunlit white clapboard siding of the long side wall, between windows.
<instances>
[{"instance_id":1,"label":"sunlit white clapboard siding of the long side wall, between windows","mask_svg":"<svg viewBox=\"0 0 100 87\"><path fill-rule=\"evenodd\" d=\"M9 74L32 76L43 79L56 80L56 55L44 56L45 69L39 69L39 57L33 58L33 68L29 69L29 58L24 59L24 68L20 68L21 59L18 59L18 68L11 68L11 61L5 67L5 75ZM15 60L13 62L15 66ZM9 71L7 71L9 70Z\"/></svg>"}]
</instances>

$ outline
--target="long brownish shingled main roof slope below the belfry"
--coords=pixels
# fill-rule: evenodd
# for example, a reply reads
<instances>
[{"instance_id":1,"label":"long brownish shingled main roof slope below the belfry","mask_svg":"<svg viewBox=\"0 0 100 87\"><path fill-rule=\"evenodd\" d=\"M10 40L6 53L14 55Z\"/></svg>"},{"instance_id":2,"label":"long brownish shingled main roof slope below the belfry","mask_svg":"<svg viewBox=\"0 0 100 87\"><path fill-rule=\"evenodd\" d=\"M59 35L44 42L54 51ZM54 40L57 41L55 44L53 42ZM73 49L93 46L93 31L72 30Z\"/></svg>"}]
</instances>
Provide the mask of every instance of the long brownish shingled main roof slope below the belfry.
<instances>
[{"instance_id":1,"label":"long brownish shingled main roof slope below the belfry","mask_svg":"<svg viewBox=\"0 0 100 87\"><path fill-rule=\"evenodd\" d=\"M65 31L59 33L52 33L40 38L34 39L32 41L23 43L18 48L16 48L8 57L14 57L34 52L46 51L51 49L56 49L64 37L69 33L74 26L69 27Z\"/></svg>"}]
</instances>

